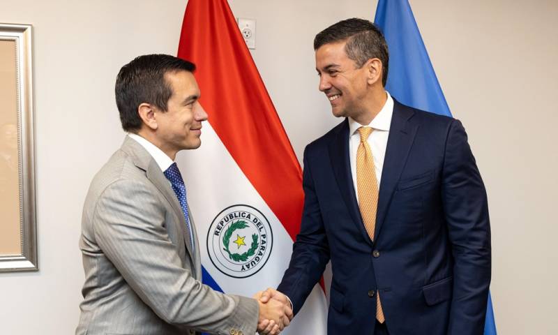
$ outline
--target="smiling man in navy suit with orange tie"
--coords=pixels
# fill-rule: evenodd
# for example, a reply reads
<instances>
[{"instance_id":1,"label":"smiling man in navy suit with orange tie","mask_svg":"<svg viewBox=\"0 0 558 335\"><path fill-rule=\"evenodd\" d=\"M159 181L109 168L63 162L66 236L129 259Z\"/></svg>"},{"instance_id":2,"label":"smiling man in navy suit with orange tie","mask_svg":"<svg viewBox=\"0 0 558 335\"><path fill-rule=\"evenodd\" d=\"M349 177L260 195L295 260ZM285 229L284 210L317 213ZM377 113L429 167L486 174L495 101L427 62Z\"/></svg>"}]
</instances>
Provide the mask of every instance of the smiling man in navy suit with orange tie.
<instances>
[{"instance_id":1,"label":"smiling man in navy suit with orange tie","mask_svg":"<svg viewBox=\"0 0 558 335\"><path fill-rule=\"evenodd\" d=\"M345 119L304 151L301 232L263 299L286 295L297 313L331 260L329 334L483 334L490 222L460 121L384 90L371 22L333 24L314 48L319 90Z\"/></svg>"}]
</instances>

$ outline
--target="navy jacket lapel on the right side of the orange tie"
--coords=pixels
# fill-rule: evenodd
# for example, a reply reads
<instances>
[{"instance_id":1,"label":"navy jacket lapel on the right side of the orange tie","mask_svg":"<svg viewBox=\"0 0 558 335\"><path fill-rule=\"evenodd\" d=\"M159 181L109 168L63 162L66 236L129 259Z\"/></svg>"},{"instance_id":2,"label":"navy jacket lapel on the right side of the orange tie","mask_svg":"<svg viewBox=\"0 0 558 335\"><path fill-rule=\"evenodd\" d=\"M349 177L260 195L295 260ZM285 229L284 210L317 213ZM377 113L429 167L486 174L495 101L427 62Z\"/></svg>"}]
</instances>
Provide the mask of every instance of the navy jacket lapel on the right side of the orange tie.
<instances>
[{"instance_id":1,"label":"navy jacket lapel on the right side of the orange tie","mask_svg":"<svg viewBox=\"0 0 558 335\"><path fill-rule=\"evenodd\" d=\"M395 186L401 177L403 168L405 168L409 151L418 130L418 125L414 125L410 121L413 115L412 109L401 105L393 99L393 116L391 117L386 156L382 169L382 181L379 187L374 235L376 238L379 236L380 228L382 228L382 224L386 219L386 212L389 208L393 191L395 191Z\"/></svg>"}]
</instances>

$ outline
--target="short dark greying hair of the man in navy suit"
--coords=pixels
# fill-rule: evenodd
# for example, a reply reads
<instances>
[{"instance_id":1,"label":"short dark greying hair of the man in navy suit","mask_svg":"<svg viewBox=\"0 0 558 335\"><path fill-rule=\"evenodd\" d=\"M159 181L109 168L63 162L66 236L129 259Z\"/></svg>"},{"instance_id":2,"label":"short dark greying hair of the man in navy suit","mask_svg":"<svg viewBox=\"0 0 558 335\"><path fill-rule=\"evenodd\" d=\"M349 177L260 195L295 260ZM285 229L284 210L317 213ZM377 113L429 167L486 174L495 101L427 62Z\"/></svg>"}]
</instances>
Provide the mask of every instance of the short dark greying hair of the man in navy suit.
<instances>
[{"instance_id":1,"label":"short dark greying hair of the man in navy suit","mask_svg":"<svg viewBox=\"0 0 558 335\"><path fill-rule=\"evenodd\" d=\"M382 84L386 86L388 79L389 52L386 38L375 24L368 20L342 20L319 32L314 38L314 50L324 44L347 40L345 52L356 66L361 68L368 59L377 58L382 61Z\"/></svg>"}]
</instances>

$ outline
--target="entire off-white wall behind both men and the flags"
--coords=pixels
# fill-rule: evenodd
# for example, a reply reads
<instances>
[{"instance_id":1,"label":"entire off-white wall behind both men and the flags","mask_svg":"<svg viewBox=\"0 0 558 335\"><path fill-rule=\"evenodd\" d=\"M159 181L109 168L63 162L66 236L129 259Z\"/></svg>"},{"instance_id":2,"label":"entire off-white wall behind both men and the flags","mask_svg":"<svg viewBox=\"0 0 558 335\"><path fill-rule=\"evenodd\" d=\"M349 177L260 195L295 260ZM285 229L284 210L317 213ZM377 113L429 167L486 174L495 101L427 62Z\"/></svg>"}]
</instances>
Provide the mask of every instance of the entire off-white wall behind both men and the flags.
<instances>
[{"instance_id":1,"label":"entire off-white wall behind both men and the flags","mask_svg":"<svg viewBox=\"0 0 558 335\"><path fill-rule=\"evenodd\" d=\"M488 189L499 334L556 334L558 2L410 1ZM257 20L252 55L296 154L338 120L317 91L312 40L376 1L231 0ZM163 5L164 4L164 5ZM0 334L71 334L83 281L86 189L119 147L119 68L176 53L184 0L2 1L0 22L34 27L40 271L0 274Z\"/></svg>"}]
</instances>

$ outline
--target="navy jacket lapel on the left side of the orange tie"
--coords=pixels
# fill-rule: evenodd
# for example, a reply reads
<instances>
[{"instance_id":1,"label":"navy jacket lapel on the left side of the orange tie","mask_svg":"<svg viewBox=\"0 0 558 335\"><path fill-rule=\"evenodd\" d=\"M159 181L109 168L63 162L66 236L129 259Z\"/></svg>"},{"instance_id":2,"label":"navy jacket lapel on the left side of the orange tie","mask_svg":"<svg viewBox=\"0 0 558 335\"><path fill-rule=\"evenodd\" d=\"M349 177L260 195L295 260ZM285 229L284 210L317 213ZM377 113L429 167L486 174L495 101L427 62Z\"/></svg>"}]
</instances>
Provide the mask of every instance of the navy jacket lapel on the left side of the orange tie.
<instances>
[{"instance_id":1,"label":"navy jacket lapel on the left side of the orange tie","mask_svg":"<svg viewBox=\"0 0 558 335\"><path fill-rule=\"evenodd\" d=\"M363 234L365 241L370 241L370 237L362 222L359 203L356 201L351 174L351 162L349 161L349 121L347 119L338 126L335 137L329 142L329 158L349 214L361 231L361 234Z\"/></svg>"}]
</instances>

